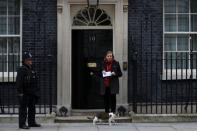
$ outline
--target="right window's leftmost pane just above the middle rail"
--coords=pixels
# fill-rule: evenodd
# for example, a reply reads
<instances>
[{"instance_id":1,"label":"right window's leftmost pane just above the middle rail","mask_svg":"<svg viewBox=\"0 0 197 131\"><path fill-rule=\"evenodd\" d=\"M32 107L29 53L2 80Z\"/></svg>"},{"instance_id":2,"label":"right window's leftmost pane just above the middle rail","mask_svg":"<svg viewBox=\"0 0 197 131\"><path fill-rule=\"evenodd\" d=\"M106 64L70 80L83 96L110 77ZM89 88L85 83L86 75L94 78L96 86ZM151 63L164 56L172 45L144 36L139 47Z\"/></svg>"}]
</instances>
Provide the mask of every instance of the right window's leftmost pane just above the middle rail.
<instances>
[{"instance_id":1,"label":"right window's leftmost pane just above the middle rail","mask_svg":"<svg viewBox=\"0 0 197 131\"><path fill-rule=\"evenodd\" d=\"M165 17L165 31L177 31L176 15L166 15Z\"/></svg>"}]
</instances>

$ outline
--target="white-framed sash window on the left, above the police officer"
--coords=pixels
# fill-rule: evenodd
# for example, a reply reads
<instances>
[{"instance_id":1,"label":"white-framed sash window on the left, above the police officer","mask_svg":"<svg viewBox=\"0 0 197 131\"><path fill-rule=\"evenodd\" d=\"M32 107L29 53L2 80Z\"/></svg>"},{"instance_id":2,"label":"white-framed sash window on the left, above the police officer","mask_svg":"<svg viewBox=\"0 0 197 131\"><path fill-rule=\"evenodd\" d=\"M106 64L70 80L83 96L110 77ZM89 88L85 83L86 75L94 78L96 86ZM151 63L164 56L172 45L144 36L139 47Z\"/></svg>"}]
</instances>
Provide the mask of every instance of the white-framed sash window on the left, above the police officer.
<instances>
[{"instance_id":1,"label":"white-framed sash window on the left, above the police officer","mask_svg":"<svg viewBox=\"0 0 197 131\"><path fill-rule=\"evenodd\" d=\"M0 0L0 73L16 72L20 62L21 1Z\"/></svg>"}]
</instances>

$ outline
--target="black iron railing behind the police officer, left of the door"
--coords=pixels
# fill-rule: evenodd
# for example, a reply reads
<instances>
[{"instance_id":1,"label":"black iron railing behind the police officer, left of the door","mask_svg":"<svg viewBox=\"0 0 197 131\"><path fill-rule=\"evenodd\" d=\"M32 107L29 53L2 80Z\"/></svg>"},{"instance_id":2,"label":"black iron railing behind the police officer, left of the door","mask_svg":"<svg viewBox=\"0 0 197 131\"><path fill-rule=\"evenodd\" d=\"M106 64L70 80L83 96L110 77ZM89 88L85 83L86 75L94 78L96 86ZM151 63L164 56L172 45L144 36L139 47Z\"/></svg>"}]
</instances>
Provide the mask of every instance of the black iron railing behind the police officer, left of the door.
<instances>
[{"instance_id":1,"label":"black iron railing behind the police officer, left of the door","mask_svg":"<svg viewBox=\"0 0 197 131\"><path fill-rule=\"evenodd\" d=\"M46 57L46 56L44 56ZM38 74L37 86L40 88L40 100L36 105L37 114L51 113L56 105L56 75L54 62L51 57L42 62L33 61L33 67ZM18 93L16 89L17 67L21 65L18 61L0 62L3 65L12 64L13 70L1 70L0 74L0 114L18 113ZM17 63L17 64L16 64ZM18 65L18 66L14 66Z\"/></svg>"}]
</instances>

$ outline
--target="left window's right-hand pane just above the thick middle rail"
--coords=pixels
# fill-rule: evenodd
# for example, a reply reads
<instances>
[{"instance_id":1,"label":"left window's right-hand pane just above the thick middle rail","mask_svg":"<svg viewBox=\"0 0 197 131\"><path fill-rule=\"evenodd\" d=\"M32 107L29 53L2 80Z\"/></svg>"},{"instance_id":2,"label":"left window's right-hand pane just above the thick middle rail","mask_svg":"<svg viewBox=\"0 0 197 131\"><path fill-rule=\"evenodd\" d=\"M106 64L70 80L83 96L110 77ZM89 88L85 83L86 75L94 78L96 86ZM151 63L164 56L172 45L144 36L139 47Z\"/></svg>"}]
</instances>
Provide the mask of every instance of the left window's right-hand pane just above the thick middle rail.
<instances>
[{"instance_id":1,"label":"left window's right-hand pane just above the thick middle rail","mask_svg":"<svg viewBox=\"0 0 197 131\"><path fill-rule=\"evenodd\" d=\"M20 34L20 17L9 17L8 34Z\"/></svg>"}]
</instances>

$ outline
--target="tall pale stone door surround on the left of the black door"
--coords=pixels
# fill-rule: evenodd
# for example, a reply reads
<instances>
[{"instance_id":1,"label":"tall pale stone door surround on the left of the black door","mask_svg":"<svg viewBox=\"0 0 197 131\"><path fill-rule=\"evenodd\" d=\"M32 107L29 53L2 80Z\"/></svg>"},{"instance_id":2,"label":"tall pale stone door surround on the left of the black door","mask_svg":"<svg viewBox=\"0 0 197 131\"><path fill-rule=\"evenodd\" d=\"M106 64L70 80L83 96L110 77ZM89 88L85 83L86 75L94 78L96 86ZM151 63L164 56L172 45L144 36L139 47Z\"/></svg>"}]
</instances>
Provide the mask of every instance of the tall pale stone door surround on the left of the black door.
<instances>
[{"instance_id":1,"label":"tall pale stone door surround on the left of the black door","mask_svg":"<svg viewBox=\"0 0 197 131\"><path fill-rule=\"evenodd\" d=\"M58 14L58 88L57 107L65 106L71 110L71 23L68 0L58 0L62 12Z\"/></svg>"}]
</instances>

